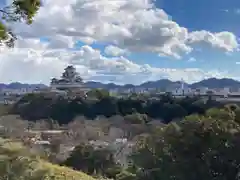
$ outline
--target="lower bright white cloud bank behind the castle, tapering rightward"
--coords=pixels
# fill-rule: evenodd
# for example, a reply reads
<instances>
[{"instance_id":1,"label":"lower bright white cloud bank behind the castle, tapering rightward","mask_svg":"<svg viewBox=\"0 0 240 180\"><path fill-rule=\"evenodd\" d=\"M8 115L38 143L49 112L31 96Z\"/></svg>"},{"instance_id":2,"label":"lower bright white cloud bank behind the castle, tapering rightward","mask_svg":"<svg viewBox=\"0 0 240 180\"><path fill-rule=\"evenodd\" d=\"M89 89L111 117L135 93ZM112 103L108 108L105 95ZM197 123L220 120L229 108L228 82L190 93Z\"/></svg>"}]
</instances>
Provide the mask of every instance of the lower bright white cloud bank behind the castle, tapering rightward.
<instances>
[{"instance_id":1,"label":"lower bright white cloud bank behind the castle, tapering rightward","mask_svg":"<svg viewBox=\"0 0 240 180\"><path fill-rule=\"evenodd\" d=\"M26 40L29 42L29 40ZM27 44L27 43L26 43ZM46 45L45 45L46 46ZM143 81L169 78L187 82L206 77L225 77L227 73L206 72L200 69L156 68L148 64L139 65L124 57L104 57L99 50L85 45L77 51L40 48L8 49L0 54L0 82L49 83L50 78L59 77L68 64L74 64L85 80L111 81L139 84ZM29 51L32 53L29 53Z\"/></svg>"}]
</instances>

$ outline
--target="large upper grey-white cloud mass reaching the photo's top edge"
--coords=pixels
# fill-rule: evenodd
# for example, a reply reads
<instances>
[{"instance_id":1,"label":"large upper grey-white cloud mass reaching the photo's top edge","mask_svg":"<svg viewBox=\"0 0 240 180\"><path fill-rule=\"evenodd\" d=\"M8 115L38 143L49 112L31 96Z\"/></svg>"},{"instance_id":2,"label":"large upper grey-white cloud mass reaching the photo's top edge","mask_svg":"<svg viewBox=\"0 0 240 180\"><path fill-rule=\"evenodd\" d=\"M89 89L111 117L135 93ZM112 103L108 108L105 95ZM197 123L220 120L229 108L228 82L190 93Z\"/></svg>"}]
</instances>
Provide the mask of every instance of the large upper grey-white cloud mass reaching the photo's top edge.
<instances>
[{"instance_id":1,"label":"large upper grey-white cloud mass reaching the photo's top edge","mask_svg":"<svg viewBox=\"0 0 240 180\"><path fill-rule=\"evenodd\" d=\"M110 42L130 51L180 58L192 44L205 43L234 51L238 42L230 32L189 32L150 0L45 0L31 27L17 26L22 36L74 37L88 43Z\"/></svg>"}]
</instances>

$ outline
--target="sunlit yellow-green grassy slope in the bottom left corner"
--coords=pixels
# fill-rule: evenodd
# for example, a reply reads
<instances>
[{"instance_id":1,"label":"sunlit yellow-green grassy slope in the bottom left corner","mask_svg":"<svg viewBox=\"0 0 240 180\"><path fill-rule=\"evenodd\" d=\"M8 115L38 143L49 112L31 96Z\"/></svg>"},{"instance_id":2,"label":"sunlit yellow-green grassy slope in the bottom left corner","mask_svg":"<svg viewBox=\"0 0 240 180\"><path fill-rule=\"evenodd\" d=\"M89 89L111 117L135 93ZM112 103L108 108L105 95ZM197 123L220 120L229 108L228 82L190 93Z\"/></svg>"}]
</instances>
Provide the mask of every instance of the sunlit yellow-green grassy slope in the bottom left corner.
<instances>
[{"instance_id":1,"label":"sunlit yellow-green grassy slope in the bottom left corner","mask_svg":"<svg viewBox=\"0 0 240 180\"><path fill-rule=\"evenodd\" d=\"M67 167L40 159L19 142L0 138L0 179L16 180L95 180Z\"/></svg>"}]
</instances>

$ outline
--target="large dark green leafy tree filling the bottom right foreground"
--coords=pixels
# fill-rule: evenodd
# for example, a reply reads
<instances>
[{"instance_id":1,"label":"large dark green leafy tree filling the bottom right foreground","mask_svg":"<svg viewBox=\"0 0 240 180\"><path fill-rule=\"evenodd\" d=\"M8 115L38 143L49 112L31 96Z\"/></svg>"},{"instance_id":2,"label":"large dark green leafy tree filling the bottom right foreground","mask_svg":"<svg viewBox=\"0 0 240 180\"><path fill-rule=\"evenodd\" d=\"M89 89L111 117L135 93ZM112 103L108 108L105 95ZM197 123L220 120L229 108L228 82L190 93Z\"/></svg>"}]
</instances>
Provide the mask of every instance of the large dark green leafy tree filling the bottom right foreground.
<instances>
[{"instance_id":1,"label":"large dark green leafy tree filling the bottom right foreground","mask_svg":"<svg viewBox=\"0 0 240 180\"><path fill-rule=\"evenodd\" d=\"M138 180L237 179L240 127L205 117L171 123L137 143L131 156Z\"/></svg>"}]
</instances>

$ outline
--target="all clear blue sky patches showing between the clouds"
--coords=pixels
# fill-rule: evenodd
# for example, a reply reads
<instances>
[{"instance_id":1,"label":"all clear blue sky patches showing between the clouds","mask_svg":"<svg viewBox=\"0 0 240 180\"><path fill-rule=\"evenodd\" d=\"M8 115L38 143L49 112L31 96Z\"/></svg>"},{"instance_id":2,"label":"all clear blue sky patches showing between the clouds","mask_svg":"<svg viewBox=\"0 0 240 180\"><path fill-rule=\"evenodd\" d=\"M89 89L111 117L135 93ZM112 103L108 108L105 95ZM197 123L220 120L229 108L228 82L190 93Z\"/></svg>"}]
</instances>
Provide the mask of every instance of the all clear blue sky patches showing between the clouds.
<instances>
[{"instance_id":1,"label":"all clear blue sky patches showing between the clouds","mask_svg":"<svg viewBox=\"0 0 240 180\"><path fill-rule=\"evenodd\" d=\"M210 32L229 31L240 36L240 1L239 0L156 0L157 8L163 9L180 26L189 31L207 30ZM83 43L79 43L84 45ZM80 46L79 45L79 46ZM92 47L104 51L107 44L94 44ZM131 53L128 56L138 64L146 62L154 67L162 68L201 68L220 71L231 71L238 76L240 53L228 55L218 50L203 48L183 56L182 60L159 57L153 53ZM189 62L194 57L195 62ZM240 74L239 74L240 75Z\"/></svg>"}]
</instances>

